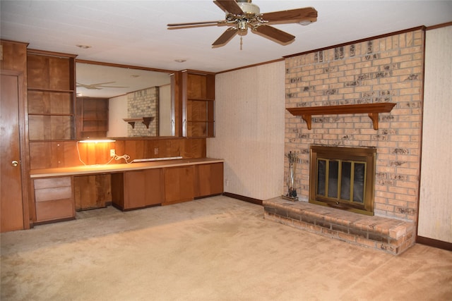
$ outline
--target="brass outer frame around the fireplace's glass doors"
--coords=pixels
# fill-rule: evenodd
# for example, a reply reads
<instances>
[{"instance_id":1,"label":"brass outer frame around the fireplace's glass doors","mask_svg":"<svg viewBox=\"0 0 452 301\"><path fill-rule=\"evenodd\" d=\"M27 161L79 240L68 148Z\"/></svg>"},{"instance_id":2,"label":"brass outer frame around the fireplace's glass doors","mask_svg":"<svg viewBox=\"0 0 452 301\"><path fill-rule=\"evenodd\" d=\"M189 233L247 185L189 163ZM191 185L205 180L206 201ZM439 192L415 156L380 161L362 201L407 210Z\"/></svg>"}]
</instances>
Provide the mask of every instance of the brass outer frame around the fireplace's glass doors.
<instances>
[{"instance_id":1,"label":"brass outer frame around the fireplace's glass doors","mask_svg":"<svg viewBox=\"0 0 452 301\"><path fill-rule=\"evenodd\" d=\"M374 215L374 183L376 148L374 147L326 147L311 145L309 174L309 202L359 214ZM352 202L340 197L325 197L317 194L318 160L364 163L364 202ZM338 192L339 195L339 192Z\"/></svg>"}]
</instances>

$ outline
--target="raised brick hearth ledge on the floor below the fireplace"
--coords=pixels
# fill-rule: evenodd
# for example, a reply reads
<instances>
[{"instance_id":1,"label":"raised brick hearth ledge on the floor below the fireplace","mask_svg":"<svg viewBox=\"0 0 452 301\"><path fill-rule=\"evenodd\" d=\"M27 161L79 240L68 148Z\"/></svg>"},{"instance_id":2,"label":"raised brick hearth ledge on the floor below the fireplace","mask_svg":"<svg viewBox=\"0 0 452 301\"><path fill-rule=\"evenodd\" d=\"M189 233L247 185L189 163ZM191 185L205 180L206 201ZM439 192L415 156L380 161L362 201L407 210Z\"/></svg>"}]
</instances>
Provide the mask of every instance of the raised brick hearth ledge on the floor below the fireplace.
<instances>
[{"instance_id":1,"label":"raised brick hearth ledge on the floor below the fireplace","mask_svg":"<svg viewBox=\"0 0 452 301\"><path fill-rule=\"evenodd\" d=\"M415 243L415 224L410 221L367 216L282 197L263 201L264 217L328 238L401 254Z\"/></svg>"}]
</instances>

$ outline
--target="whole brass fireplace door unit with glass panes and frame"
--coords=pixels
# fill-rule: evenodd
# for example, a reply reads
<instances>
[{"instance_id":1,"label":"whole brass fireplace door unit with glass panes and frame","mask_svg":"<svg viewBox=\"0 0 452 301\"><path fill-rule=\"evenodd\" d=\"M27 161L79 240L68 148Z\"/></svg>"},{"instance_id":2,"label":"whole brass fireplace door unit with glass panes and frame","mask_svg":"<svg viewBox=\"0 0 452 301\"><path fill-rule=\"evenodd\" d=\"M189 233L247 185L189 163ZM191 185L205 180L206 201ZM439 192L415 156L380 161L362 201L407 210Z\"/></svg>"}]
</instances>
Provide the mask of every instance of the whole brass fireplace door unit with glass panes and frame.
<instances>
[{"instance_id":1,"label":"whole brass fireplace door unit with glass panes and frame","mask_svg":"<svg viewBox=\"0 0 452 301\"><path fill-rule=\"evenodd\" d=\"M311 145L309 202L374 215L374 147Z\"/></svg>"}]
</instances>

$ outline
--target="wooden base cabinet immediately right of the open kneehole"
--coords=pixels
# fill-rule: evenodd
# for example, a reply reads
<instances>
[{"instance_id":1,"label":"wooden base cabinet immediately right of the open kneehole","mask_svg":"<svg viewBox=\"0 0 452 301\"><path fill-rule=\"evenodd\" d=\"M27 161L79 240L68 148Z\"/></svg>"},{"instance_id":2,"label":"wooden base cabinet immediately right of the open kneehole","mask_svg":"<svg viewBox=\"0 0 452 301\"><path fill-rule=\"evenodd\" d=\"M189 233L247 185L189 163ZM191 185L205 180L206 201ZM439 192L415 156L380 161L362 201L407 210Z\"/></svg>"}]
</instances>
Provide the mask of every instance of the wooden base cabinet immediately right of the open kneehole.
<instances>
[{"instance_id":1,"label":"wooden base cabinet immediately right of the open kneehole","mask_svg":"<svg viewBox=\"0 0 452 301\"><path fill-rule=\"evenodd\" d=\"M164 189L162 168L112 174L112 203L121 210L161 204Z\"/></svg>"}]
</instances>

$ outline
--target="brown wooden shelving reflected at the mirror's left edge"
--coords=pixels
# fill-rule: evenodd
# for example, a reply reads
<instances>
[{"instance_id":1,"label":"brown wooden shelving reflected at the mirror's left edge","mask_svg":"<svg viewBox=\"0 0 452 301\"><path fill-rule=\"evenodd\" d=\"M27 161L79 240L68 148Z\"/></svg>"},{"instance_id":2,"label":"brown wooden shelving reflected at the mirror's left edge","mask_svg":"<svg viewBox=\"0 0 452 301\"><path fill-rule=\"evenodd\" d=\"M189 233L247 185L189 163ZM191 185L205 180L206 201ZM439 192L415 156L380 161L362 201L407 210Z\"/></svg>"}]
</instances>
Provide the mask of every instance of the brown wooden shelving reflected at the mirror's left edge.
<instances>
[{"instance_id":1,"label":"brown wooden shelving reflected at the mirror's left edge","mask_svg":"<svg viewBox=\"0 0 452 301\"><path fill-rule=\"evenodd\" d=\"M107 137L108 102L105 98L77 97L77 139Z\"/></svg>"}]
</instances>

